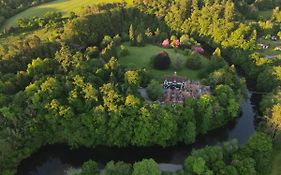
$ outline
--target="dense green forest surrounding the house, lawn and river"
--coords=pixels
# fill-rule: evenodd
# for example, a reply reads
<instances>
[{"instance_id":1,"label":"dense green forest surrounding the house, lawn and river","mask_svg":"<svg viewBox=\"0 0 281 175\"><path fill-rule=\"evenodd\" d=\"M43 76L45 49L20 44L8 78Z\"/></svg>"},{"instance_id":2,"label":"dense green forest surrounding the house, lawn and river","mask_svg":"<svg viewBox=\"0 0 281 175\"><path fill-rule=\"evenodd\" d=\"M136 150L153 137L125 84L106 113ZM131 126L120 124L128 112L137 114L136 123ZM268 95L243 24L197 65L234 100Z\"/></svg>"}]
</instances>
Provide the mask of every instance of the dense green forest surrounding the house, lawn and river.
<instances>
[{"instance_id":1,"label":"dense green forest surrounding the house, lawn and river","mask_svg":"<svg viewBox=\"0 0 281 175\"><path fill-rule=\"evenodd\" d=\"M0 25L44 2L1 1ZM69 17L56 12L19 20L1 34L5 40L28 33L0 45L0 174L15 174L23 159L47 144L192 144L198 135L238 117L246 80L237 77L237 68L263 94L257 132L240 147L233 141L192 151L177 174L268 173L281 138L281 59L259 53L257 42L266 35L281 39L278 5L278 0L135 0L132 7L125 2L91 5ZM261 19L259 12L268 9L272 15ZM123 65L120 58L130 54L127 45L157 45L166 38L175 52L186 55L192 44L213 48L199 73L210 95L162 105L138 93L139 87L147 88L157 99L162 77ZM196 63L187 64L194 68ZM99 173L94 161L82 167L81 174ZM103 174L161 172L146 159L133 165L109 162Z\"/></svg>"}]
</instances>

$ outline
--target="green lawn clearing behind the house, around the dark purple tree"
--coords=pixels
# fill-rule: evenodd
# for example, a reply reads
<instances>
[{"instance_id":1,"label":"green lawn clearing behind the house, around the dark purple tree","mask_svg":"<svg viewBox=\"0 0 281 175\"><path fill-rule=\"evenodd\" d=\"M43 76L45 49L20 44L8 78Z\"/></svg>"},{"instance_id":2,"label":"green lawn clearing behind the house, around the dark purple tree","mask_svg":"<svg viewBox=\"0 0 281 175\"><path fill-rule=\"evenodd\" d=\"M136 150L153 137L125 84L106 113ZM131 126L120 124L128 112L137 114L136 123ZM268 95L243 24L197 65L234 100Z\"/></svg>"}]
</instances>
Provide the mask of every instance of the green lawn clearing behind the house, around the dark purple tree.
<instances>
[{"instance_id":1,"label":"green lawn clearing behind the house, around the dark purple tree","mask_svg":"<svg viewBox=\"0 0 281 175\"><path fill-rule=\"evenodd\" d=\"M146 45L145 47L131 47L126 45L128 48L130 54L128 56L121 56L119 58L119 63L122 65L126 65L128 67L134 67L134 68L147 68L152 71L155 78L162 78L165 75L173 75L176 71L178 75L187 77L189 79L198 80L198 74L199 71L190 70L185 67L186 60L188 56L185 56L183 54L183 51L179 50L178 53L175 52L174 49L164 49L155 45ZM152 69L150 66L150 60L151 57L154 55L157 55L161 51L168 52L172 65L168 70L161 71L161 70L155 70ZM177 60L177 57L181 60L181 69L176 70L175 69L175 60ZM205 57L201 57L203 65L206 65L208 63L208 59Z\"/></svg>"}]
</instances>

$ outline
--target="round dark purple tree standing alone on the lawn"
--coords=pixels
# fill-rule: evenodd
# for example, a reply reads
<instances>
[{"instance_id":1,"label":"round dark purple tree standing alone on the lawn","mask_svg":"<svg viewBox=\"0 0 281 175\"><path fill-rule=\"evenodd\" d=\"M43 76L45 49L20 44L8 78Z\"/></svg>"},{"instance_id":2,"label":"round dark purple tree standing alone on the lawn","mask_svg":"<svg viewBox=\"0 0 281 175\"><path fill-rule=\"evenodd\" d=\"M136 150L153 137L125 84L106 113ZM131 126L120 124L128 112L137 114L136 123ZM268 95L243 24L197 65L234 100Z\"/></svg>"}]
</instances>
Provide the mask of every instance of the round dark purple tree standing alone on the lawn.
<instances>
[{"instance_id":1,"label":"round dark purple tree standing alone on the lawn","mask_svg":"<svg viewBox=\"0 0 281 175\"><path fill-rule=\"evenodd\" d=\"M171 59L167 52L162 51L153 59L153 67L159 70L166 70L171 65Z\"/></svg>"}]
</instances>

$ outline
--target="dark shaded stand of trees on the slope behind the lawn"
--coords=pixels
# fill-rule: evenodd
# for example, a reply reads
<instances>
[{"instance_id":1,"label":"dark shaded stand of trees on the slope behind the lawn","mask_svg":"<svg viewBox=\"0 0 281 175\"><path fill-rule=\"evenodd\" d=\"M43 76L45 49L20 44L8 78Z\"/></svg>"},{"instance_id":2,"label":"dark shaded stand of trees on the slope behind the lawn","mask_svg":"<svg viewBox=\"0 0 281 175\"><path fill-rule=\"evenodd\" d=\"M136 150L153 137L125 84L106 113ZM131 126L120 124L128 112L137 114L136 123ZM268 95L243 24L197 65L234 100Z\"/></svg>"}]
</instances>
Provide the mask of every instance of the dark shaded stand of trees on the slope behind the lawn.
<instances>
[{"instance_id":1,"label":"dark shaded stand of trees on the slope behind the lawn","mask_svg":"<svg viewBox=\"0 0 281 175\"><path fill-rule=\"evenodd\" d=\"M143 35L148 28L151 31L159 28L161 32L169 32L167 25L154 16L143 14L135 8L122 7L69 21L64 26L61 39L70 45L98 45L105 35L113 37L119 34L122 38L128 38L130 25L135 26L136 33Z\"/></svg>"}]
</instances>

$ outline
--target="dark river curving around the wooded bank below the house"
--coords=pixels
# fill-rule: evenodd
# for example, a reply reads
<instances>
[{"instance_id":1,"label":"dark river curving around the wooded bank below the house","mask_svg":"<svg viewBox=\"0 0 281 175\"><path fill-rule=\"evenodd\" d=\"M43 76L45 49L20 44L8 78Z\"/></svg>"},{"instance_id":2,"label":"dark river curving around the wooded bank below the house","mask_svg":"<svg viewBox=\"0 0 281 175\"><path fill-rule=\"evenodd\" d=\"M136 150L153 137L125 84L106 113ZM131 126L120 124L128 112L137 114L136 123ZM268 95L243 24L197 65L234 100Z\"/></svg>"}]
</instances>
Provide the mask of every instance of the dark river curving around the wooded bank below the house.
<instances>
[{"instance_id":1,"label":"dark river curving around the wooded bank below the house","mask_svg":"<svg viewBox=\"0 0 281 175\"><path fill-rule=\"evenodd\" d=\"M237 139L244 144L255 131L255 116L259 96L247 90L248 98L242 105L241 115L226 126L199 136L192 145L162 147L104 147L94 149L80 147L71 150L67 145L49 145L42 147L18 167L18 175L63 175L70 167L79 168L87 160L95 160L102 167L107 162L125 161L134 163L144 158L153 158L162 170L175 171L181 168L184 159L195 148L215 145L220 142Z\"/></svg>"}]
</instances>

